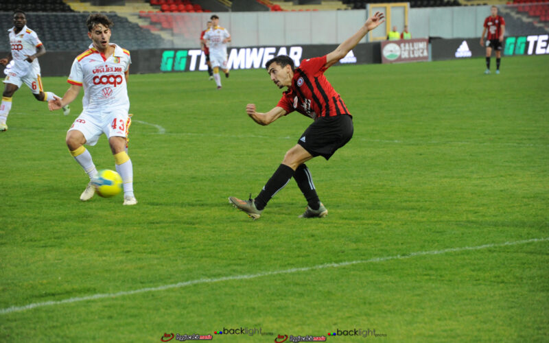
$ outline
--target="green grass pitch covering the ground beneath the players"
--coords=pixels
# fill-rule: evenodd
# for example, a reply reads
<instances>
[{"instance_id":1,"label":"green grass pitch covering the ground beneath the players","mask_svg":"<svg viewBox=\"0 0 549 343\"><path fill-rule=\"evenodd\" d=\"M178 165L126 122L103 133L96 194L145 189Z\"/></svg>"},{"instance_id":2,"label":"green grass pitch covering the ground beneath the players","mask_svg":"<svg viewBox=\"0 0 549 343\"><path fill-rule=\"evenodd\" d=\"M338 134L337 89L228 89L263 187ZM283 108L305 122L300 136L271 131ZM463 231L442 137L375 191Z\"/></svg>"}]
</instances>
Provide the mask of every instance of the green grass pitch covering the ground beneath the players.
<instances>
[{"instance_id":1,"label":"green grass pitch covering the ground beneath the players","mask_svg":"<svg viewBox=\"0 0 549 343\"><path fill-rule=\"evenodd\" d=\"M307 163L329 209L320 220L297 217L294 181L256 221L227 201L257 195L311 123L248 118L246 104L280 98L264 70L233 71L222 91L205 72L130 75L129 208L121 196L78 200L87 178L65 134L81 97L65 117L21 88L0 133L0 341L370 329L382 335L327 340L546 342L548 66L329 69L355 133L330 161ZM43 83L62 95L65 81ZM105 137L89 150L114 169ZM274 335L214 334L240 327Z\"/></svg>"}]
</instances>

